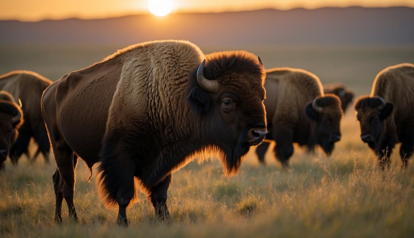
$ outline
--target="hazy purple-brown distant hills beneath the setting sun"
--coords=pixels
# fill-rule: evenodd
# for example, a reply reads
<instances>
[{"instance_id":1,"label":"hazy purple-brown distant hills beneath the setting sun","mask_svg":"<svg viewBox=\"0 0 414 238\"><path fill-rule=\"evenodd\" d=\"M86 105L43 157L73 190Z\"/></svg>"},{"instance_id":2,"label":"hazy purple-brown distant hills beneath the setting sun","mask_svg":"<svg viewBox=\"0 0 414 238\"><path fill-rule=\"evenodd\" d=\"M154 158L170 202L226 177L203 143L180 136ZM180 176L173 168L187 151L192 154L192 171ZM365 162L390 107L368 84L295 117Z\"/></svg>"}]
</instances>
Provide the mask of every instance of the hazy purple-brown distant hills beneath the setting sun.
<instances>
[{"instance_id":1,"label":"hazy purple-brown distant hills beneath the setting sun","mask_svg":"<svg viewBox=\"0 0 414 238\"><path fill-rule=\"evenodd\" d=\"M108 19L0 21L0 43L132 44L185 39L200 45L413 44L414 8L265 9Z\"/></svg>"}]
</instances>

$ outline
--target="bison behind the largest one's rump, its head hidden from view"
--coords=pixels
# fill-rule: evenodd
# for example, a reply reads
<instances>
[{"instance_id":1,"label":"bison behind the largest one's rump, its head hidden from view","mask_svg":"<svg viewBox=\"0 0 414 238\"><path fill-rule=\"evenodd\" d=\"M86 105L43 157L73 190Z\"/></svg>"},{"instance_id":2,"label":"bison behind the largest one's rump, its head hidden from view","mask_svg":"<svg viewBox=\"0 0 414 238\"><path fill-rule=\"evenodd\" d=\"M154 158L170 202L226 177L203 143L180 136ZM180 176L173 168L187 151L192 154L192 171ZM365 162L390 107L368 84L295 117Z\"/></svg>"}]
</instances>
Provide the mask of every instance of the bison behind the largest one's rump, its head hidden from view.
<instances>
[{"instance_id":1,"label":"bison behind the largest one's rump, its head hidden from view","mask_svg":"<svg viewBox=\"0 0 414 238\"><path fill-rule=\"evenodd\" d=\"M40 99L43 90L51 83L52 81L31 71L12 71L0 76L0 90L9 92L15 100L20 99L24 112L24 123L9 154L14 164L17 164L22 154L29 157L29 143L32 137L39 147L31 159L36 159L39 153L42 153L46 162L49 161L50 144L42 117Z\"/></svg>"}]
</instances>

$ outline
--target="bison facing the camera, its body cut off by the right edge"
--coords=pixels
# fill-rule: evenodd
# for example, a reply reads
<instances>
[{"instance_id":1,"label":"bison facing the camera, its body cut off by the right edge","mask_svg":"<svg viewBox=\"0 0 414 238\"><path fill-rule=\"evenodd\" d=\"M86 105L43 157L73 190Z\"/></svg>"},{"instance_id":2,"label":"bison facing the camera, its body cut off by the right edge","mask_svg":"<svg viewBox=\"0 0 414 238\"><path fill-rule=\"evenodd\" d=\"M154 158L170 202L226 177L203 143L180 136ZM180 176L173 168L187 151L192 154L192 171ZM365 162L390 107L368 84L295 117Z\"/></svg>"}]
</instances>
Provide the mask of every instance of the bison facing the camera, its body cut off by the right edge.
<instances>
[{"instance_id":1,"label":"bison facing the camera, its body cut off by the right edge","mask_svg":"<svg viewBox=\"0 0 414 238\"><path fill-rule=\"evenodd\" d=\"M361 140L375 151L385 169L395 144L407 165L414 151L414 64L388 67L376 76L371 95L358 98L356 117Z\"/></svg>"}]
</instances>

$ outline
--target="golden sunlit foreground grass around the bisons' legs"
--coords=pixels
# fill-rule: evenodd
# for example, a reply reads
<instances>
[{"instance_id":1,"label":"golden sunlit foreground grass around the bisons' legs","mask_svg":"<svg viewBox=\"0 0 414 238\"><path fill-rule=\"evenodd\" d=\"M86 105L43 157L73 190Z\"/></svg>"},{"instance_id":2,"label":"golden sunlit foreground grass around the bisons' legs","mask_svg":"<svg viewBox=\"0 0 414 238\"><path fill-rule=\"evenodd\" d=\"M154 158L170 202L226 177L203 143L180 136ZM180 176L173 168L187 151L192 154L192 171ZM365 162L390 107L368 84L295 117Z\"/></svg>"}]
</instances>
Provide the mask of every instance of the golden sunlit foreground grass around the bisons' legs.
<instances>
[{"instance_id":1,"label":"golden sunlit foreground grass around the bisons' legs","mask_svg":"<svg viewBox=\"0 0 414 238\"><path fill-rule=\"evenodd\" d=\"M173 175L168 190L172 223L156 222L150 202L128 210L129 228L115 225L117 211L107 210L87 182L89 171L77 168L75 205L79 224L53 221L55 164L22 158L0 175L2 237L412 237L414 166L402 170L400 158L381 171L372 152L360 142L352 112L342 121L343 139L332 157L295 148L289 171L272 153L261 166L250 151L237 176L222 175L219 162L190 163ZM349 148L354 149L349 149Z\"/></svg>"}]
</instances>

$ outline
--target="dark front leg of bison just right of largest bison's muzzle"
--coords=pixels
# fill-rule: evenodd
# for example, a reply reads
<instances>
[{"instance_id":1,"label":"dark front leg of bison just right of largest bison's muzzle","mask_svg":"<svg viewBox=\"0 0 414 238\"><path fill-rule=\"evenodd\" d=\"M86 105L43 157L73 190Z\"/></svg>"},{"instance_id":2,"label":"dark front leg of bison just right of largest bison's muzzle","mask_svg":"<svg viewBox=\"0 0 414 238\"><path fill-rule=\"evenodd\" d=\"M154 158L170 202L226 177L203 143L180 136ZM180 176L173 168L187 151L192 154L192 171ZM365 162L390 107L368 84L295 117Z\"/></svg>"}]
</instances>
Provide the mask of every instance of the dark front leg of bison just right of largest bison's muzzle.
<instances>
[{"instance_id":1,"label":"dark front leg of bison just right of largest bison's muzzle","mask_svg":"<svg viewBox=\"0 0 414 238\"><path fill-rule=\"evenodd\" d=\"M274 147L277 160L284 169L289 168L289 158L293 154L293 131L288 127L280 127L274 133L276 146Z\"/></svg>"}]
</instances>

